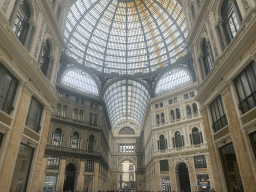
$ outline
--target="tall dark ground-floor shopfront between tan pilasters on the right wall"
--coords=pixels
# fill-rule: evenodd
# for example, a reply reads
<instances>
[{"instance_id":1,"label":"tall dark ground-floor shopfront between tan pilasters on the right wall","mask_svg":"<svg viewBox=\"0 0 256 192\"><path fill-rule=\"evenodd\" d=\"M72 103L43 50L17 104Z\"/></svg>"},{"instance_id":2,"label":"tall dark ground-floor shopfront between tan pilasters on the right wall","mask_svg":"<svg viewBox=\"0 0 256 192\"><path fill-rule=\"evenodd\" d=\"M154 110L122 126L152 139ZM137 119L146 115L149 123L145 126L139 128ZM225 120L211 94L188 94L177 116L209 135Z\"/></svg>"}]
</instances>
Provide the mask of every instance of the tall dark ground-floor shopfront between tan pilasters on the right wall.
<instances>
[{"instance_id":1,"label":"tall dark ground-floor shopfront between tan pilasters on the right wall","mask_svg":"<svg viewBox=\"0 0 256 192\"><path fill-rule=\"evenodd\" d=\"M236 183L240 191L243 192L243 184L233 143L229 143L219 150L228 191L232 191L234 183Z\"/></svg>"}]
</instances>

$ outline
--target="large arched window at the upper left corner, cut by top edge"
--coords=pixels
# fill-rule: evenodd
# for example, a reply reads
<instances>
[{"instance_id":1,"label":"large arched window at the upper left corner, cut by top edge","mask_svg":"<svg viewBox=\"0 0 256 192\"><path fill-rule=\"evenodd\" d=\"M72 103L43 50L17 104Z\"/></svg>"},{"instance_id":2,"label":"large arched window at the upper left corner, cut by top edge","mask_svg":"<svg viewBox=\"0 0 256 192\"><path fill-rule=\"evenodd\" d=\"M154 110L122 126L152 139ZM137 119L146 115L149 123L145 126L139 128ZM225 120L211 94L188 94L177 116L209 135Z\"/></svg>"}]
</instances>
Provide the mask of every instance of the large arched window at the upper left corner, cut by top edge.
<instances>
[{"instance_id":1,"label":"large arched window at the upper left corner, cut by top edge","mask_svg":"<svg viewBox=\"0 0 256 192\"><path fill-rule=\"evenodd\" d=\"M30 17L31 11L28 1L24 0L23 3L20 4L19 0L17 0L13 9L10 25L23 45L26 41L26 38L28 38L27 32L29 28Z\"/></svg>"}]
</instances>

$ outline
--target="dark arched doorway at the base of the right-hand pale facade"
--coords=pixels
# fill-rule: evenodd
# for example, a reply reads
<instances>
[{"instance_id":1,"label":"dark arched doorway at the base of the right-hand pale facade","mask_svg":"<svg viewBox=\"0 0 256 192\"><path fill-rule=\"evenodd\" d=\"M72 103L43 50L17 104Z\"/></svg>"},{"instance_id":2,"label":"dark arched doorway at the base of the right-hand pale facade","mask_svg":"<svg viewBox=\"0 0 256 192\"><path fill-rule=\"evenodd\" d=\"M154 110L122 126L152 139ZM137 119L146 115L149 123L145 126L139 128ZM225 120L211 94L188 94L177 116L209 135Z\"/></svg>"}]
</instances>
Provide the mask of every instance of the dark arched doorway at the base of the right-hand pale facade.
<instances>
[{"instance_id":1,"label":"dark arched doorway at the base of the right-hand pale facade","mask_svg":"<svg viewBox=\"0 0 256 192\"><path fill-rule=\"evenodd\" d=\"M188 167L185 163L181 163L178 167L180 191L191 192Z\"/></svg>"}]
</instances>

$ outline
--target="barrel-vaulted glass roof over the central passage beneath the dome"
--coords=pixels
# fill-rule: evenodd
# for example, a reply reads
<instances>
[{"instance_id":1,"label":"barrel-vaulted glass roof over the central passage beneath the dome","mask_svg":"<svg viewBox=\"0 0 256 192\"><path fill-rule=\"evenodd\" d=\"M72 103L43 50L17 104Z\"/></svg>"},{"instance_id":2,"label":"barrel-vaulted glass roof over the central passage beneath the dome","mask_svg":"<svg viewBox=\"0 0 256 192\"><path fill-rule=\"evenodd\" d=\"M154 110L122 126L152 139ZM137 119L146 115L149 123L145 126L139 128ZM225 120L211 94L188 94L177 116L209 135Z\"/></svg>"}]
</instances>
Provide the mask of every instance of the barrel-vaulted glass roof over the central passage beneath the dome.
<instances>
[{"instance_id":1,"label":"barrel-vaulted glass roof over the central passage beneath the dome","mask_svg":"<svg viewBox=\"0 0 256 192\"><path fill-rule=\"evenodd\" d=\"M108 87L104 99L114 127L122 120L132 120L141 125L150 96L137 81L121 80Z\"/></svg>"}]
</instances>

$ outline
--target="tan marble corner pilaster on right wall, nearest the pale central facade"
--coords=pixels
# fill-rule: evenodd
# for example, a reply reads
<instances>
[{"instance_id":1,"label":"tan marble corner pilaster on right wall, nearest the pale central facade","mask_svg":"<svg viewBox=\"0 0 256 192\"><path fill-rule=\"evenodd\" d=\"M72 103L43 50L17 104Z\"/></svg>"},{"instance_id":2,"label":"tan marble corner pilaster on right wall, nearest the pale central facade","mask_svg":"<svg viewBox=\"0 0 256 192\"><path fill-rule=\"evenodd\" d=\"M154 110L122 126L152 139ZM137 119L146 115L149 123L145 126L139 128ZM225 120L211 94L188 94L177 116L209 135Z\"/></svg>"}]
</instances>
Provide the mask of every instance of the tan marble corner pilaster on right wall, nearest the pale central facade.
<instances>
[{"instance_id":1,"label":"tan marble corner pilaster on right wall, nearest the pale central facade","mask_svg":"<svg viewBox=\"0 0 256 192\"><path fill-rule=\"evenodd\" d=\"M212 165L212 170L214 170L213 178L215 181L215 185L211 185L211 187L213 187L215 189L215 191L224 191L224 189L222 188L222 185L221 185L221 177L220 177L219 167L218 167L218 163L217 163L216 151L214 148L212 134L211 134L211 126L208 121L208 115L205 112L205 113L202 113L202 116L203 116L203 121L204 121L205 136L207 139L210 161L211 161L211 165Z\"/></svg>"}]
</instances>

